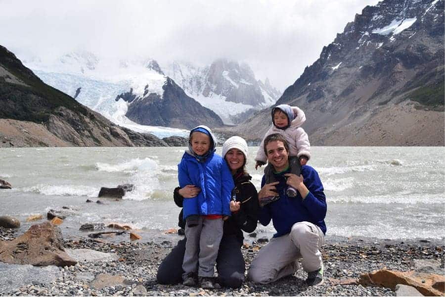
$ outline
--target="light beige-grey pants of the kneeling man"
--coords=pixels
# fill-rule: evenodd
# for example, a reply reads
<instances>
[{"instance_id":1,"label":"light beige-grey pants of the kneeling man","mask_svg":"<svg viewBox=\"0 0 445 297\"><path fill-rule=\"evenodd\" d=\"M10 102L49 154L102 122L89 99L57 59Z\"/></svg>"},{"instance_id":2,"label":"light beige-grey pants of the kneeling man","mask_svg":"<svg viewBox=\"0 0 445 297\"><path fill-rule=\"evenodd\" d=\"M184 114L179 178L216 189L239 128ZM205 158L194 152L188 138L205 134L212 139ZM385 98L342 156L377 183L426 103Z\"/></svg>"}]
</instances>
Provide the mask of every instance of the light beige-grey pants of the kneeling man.
<instances>
[{"instance_id":1,"label":"light beige-grey pants of the kneeling man","mask_svg":"<svg viewBox=\"0 0 445 297\"><path fill-rule=\"evenodd\" d=\"M310 222L295 223L289 234L272 238L260 249L247 277L255 283L272 283L294 274L299 258L305 271L318 270L322 265L319 248L323 244L324 234L318 226Z\"/></svg>"}]
</instances>

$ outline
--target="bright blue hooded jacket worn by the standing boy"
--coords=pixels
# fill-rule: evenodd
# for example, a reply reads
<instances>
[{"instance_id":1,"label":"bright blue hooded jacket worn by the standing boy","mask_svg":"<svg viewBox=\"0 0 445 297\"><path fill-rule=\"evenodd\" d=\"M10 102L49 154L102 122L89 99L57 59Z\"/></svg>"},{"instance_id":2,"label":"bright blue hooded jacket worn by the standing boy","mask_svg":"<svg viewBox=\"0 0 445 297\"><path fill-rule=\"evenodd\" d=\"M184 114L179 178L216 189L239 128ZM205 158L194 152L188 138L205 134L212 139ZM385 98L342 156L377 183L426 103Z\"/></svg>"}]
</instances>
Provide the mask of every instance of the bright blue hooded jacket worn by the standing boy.
<instances>
[{"instance_id":1,"label":"bright blue hooded jacket worn by the standing boy","mask_svg":"<svg viewBox=\"0 0 445 297\"><path fill-rule=\"evenodd\" d=\"M189 137L189 149L178 164L179 187L194 185L201 189L197 197L184 198L184 219L190 215L230 215L230 193L235 187L232 174L225 160L215 153L216 139L211 130L200 125L192 129L190 135L197 128L209 132L212 146L206 158L200 158L193 153Z\"/></svg>"}]
</instances>

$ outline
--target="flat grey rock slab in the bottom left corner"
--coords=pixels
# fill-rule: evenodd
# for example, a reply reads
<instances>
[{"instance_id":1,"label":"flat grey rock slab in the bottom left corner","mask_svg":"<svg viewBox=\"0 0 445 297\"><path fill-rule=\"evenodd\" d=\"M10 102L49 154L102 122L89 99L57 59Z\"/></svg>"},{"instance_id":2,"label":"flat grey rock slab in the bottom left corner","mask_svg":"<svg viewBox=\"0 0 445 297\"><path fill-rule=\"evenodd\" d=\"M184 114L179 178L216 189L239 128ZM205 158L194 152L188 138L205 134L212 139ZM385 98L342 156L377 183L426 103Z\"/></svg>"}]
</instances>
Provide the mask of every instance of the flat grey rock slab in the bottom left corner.
<instances>
[{"instance_id":1,"label":"flat grey rock slab in the bottom left corner","mask_svg":"<svg viewBox=\"0 0 445 297\"><path fill-rule=\"evenodd\" d=\"M33 283L46 286L59 277L62 277L62 273L57 266L35 267L0 262L1 295L11 294L13 290Z\"/></svg>"}]
</instances>

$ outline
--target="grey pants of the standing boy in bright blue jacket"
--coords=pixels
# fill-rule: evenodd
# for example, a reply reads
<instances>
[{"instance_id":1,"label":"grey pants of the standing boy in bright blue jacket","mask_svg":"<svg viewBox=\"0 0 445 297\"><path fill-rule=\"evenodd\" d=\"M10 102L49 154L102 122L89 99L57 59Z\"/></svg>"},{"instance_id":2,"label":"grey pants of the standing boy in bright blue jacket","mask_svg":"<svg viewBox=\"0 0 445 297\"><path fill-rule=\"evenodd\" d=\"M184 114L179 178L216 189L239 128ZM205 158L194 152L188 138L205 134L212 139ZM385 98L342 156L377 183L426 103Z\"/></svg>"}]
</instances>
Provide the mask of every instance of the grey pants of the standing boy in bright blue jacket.
<instances>
[{"instance_id":1,"label":"grey pants of the standing boy in bright blue jacket","mask_svg":"<svg viewBox=\"0 0 445 297\"><path fill-rule=\"evenodd\" d=\"M197 226L185 225L185 237L187 242L182 262L184 270L182 278L196 270L198 270L198 276L213 277L218 249L223 237L223 219L211 220L205 216L199 216Z\"/></svg>"}]
</instances>

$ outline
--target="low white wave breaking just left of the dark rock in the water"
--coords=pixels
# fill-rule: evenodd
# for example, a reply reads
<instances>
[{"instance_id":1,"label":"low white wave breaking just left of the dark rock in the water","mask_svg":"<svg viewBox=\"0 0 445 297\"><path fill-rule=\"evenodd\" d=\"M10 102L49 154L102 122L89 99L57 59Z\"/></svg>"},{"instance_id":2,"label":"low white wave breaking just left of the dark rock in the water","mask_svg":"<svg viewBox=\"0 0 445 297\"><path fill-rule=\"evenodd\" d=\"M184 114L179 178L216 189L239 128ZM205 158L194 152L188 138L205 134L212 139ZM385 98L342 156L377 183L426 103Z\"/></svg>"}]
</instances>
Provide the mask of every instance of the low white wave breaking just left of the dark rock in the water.
<instances>
[{"instance_id":1,"label":"low white wave breaking just left of the dark rock in the water","mask_svg":"<svg viewBox=\"0 0 445 297\"><path fill-rule=\"evenodd\" d=\"M95 187L78 185L36 185L20 189L23 192L32 192L46 196L88 196L97 197L99 189Z\"/></svg>"}]
</instances>

